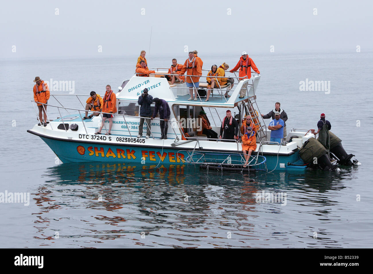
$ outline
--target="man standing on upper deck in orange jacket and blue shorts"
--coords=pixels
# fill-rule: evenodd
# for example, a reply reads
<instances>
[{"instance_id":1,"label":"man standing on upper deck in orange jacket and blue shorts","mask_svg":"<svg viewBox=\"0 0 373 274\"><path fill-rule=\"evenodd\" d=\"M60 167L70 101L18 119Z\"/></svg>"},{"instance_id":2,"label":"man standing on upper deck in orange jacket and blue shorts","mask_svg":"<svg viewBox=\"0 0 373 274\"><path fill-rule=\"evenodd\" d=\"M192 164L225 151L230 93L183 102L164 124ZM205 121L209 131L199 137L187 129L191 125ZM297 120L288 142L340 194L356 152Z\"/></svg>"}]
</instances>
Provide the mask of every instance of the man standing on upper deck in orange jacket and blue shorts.
<instances>
[{"instance_id":1,"label":"man standing on upper deck in orange jacket and blue shorts","mask_svg":"<svg viewBox=\"0 0 373 274\"><path fill-rule=\"evenodd\" d=\"M179 75L183 75L186 72L186 86L189 88L190 98L188 101L193 100L193 89L195 90L194 101L197 101L197 92L200 87L200 77L202 76L202 67L197 57L194 57L193 51L189 51L189 58L185 60L184 66L179 72Z\"/></svg>"}]
</instances>

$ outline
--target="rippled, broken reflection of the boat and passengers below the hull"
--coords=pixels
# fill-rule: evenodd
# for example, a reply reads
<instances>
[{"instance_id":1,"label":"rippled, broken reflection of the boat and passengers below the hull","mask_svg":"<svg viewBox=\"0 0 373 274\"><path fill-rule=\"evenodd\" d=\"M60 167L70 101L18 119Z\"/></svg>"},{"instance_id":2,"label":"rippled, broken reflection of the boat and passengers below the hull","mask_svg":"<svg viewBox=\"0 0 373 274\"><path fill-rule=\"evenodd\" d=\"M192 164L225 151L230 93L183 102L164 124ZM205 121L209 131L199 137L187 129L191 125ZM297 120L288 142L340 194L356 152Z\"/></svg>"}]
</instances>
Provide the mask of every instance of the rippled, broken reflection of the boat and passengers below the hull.
<instances>
[{"instance_id":1,"label":"rippled, broken reflection of the boat and passengers below the hull","mask_svg":"<svg viewBox=\"0 0 373 274\"><path fill-rule=\"evenodd\" d=\"M71 163L51 167L44 176L46 185L33 193L34 239L40 245L325 247L341 245L337 231L322 233L325 220L342 214L342 182L354 169L268 173L253 182L184 164ZM282 196L267 201L262 193ZM315 226L321 232L316 240Z\"/></svg>"}]
</instances>

